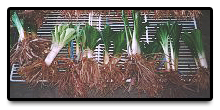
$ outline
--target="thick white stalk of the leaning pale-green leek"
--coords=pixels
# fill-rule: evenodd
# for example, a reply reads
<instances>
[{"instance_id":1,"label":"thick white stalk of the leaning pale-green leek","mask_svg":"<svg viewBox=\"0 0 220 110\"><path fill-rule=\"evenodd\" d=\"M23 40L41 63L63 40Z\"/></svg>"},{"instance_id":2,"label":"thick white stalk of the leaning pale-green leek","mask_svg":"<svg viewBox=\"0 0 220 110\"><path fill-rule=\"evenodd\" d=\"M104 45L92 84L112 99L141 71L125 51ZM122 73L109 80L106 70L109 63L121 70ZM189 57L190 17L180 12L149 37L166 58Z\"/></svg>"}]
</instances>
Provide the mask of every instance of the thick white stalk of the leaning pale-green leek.
<instances>
[{"instance_id":1,"label":"thick white stalk of the leaning pale-green leek","mask_svg":"<svg viewBox=\"0 0 220 110\"><path fill-rule=\"evenodd\" d=\"M59 51L63 48L63 45L53 45L50 53L47 55L46 59L44 60L47 66L50 66L53 62L54 58L57 56Z\"/></svg>"}]
</instances>

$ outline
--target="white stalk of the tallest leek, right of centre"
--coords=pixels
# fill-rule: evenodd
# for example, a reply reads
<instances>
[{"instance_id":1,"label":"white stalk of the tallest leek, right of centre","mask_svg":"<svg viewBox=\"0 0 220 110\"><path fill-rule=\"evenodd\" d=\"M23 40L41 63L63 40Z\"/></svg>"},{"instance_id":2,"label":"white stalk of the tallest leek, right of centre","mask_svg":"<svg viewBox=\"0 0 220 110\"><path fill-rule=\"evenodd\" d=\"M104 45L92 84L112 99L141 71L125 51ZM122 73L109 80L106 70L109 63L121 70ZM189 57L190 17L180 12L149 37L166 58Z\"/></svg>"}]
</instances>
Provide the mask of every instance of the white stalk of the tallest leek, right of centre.
<instances>
[{"instance_id":1,"label":"white stalk of the tallest leek, right of centre","mask_svg":"<svg viewBox=\"0 0 220 110\"><path fill-rule=\"evenodd\" d=\"M135 31L133 32L133 37L132 37L132 44L131 44L131 48L132 48L132 54L141 54L141 49L140 46L138 45L138 41L136 39L136 35L135 35Z\"/></svg>"}]
</instances>

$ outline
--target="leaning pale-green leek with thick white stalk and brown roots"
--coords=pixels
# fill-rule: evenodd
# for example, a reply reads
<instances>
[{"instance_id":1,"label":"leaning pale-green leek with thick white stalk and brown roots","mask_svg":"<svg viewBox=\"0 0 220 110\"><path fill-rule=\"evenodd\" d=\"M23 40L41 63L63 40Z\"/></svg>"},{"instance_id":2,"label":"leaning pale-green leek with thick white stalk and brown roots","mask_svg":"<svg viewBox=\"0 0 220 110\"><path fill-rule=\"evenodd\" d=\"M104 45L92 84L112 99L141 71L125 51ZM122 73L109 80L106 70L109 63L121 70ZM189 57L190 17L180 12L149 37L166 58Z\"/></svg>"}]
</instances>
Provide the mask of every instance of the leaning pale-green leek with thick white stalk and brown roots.
<instances>
[{"instance_id":1,"label":"leaning pale-green leek with thick white stalk and brown roots","mask_svg":"<svg viewBox=\"0 0 220 110\"><path fill-rule=\"evenodd\" d=\"M75 30L68 25L55 26L55 32L52 32L52 45L50 53L45 60L39 59L22 66L18 74L24 76L27 83L36 85L40 80L47 81L51 86L56 85L57 64L54 59L66 43L73 39ZM29 80L31 79L31 80Z\"/></svg>"}]
</instances>

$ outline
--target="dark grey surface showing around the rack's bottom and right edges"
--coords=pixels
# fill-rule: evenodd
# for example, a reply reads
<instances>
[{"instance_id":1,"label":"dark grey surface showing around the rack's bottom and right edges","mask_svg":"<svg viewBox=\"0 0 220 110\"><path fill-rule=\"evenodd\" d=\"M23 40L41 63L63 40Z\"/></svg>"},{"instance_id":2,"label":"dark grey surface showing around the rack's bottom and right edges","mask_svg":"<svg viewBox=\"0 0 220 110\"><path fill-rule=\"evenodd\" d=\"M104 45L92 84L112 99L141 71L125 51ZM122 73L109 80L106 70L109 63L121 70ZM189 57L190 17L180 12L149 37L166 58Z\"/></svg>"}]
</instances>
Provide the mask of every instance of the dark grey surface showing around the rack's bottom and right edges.
<instances>
[{"instance_id":1,"label":"dark grey surface showing around the rack's bottom and right edges","mask_svg":"<svg viewBox=\"0 0 220 110\"><path fill-rule=\"evenodd\" d=\"M197 20L198 28L202 30L202 40L206 59L210 68L210 10L202 10L202 16ZM124 94L122 90L115 91L113 97L137 97L137 91L133 90L130 94ZM59 98L56 88L42 87L38 85L35 88L29 88L24 83L10 82L10 98ZM209 97L209 96L194 96L194 97Z\"/></svg>"}]
</instances>

